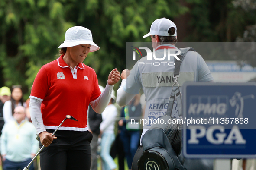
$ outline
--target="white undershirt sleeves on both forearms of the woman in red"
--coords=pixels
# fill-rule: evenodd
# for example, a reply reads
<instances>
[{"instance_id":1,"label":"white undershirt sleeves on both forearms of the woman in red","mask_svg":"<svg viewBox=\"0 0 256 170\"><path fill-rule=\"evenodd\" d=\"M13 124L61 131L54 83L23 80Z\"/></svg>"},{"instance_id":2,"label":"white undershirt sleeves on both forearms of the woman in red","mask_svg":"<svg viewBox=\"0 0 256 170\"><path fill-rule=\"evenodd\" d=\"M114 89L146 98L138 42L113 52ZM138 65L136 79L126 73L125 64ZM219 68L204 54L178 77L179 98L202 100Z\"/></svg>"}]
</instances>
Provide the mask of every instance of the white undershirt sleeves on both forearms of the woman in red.
<instances>
[{"instance_id":1,"label":"white undershirt sleeves on both forearms of the woman in red","mask_svg":"<svg viewBox=\"0 0 256 170\"><path fill-rule=\"evenodd\" d=\"M105 110L105 108L107 107L107 104L110 101L113 87L114 85L107 84L104 91L100 94L100 96L96 100L90 102L91 107L95 112L102 113ZM29 112L30 112L32 123L36 128L37 134L46 131L43 120L42 120L42 112L40 109L41 104L42 104L42 101L39 101L36 98L30 98Z\"/></svg>"}]
</instances>

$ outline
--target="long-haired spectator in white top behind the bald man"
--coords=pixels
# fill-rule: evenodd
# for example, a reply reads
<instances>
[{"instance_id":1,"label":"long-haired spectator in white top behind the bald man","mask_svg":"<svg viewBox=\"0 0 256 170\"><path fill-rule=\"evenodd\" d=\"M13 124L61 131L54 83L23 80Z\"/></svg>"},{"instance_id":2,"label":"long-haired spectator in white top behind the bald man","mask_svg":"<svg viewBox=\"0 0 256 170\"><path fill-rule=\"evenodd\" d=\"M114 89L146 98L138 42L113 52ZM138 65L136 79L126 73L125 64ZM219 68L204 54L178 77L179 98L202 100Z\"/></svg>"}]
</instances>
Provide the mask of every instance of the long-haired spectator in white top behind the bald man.
<instances>
[{"instance_id":1,"label":"long-haired spectator in white top behind the bald man","mask_svg":"<svg viewBox=\"0 0 256 170\"><path fill-rule=\"evenodd\" d=\"M12 86L12 96L10 101L6 101L3 106L3 120L5 123L13 121L13 113L14 108L17 106L24 106L26 107L26 103L23 102L23 93L21 90L21 85L13 85Z\"/></svg>"}]
</instances>

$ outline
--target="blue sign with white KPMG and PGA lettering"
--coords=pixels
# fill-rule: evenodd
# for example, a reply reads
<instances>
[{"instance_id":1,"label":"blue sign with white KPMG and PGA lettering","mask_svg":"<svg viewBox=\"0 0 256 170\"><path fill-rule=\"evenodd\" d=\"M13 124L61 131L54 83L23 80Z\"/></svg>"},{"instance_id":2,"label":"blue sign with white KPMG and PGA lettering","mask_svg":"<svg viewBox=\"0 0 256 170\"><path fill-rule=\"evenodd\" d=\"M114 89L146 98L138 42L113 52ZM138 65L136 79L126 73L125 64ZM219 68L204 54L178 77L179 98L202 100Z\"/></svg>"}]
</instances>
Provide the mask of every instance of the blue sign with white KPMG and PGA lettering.
<instances>
[{"instance_id":1,"label":"blue sign with white KPMG and PGA lettering","mask_svg":"<svg viewBox=\"0 0 256 170\"><path fill-rule=\"evenodd\" d=\"M187 82L183 152L188 158L256 158L256 83Z\"/></svg>"}]
</instances>

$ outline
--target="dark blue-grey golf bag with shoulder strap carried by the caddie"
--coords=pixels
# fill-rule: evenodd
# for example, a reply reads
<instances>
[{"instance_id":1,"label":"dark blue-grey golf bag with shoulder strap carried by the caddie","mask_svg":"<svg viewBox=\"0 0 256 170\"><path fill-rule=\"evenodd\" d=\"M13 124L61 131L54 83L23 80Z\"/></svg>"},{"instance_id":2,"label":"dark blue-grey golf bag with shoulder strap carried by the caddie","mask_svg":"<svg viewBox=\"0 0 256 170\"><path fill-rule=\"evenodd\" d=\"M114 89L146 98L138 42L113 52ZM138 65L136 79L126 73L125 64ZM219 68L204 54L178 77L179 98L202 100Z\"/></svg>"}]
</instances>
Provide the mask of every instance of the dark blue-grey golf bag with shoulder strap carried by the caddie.
<instances>
[{"instance_id":1,"label":"dark blue-grey golf bag with shoulder strap carried by the caddie","mask_svg":"<svg viewBox=\"0 0 256 170\"><path fill-rule=\"evenodd\" d=\"M173 82L178 85L179 69L181 62L188 51L193 48L181 48L178 57L181 61L175 61L175 71ZM174 85L175 85L174 84ZM143 136L143 154L140 156L137 165L139 170L213 170L213 160L211 159L187 159L182 154L181 125L178 119L171 117L174 101L178 104L179 116L182 116L182 100L179 87L172 86L170 101L165 116L159 119L167 124L152 124ZM160 121L161 122L161 121Z\"/></svg>"}]
</instances>

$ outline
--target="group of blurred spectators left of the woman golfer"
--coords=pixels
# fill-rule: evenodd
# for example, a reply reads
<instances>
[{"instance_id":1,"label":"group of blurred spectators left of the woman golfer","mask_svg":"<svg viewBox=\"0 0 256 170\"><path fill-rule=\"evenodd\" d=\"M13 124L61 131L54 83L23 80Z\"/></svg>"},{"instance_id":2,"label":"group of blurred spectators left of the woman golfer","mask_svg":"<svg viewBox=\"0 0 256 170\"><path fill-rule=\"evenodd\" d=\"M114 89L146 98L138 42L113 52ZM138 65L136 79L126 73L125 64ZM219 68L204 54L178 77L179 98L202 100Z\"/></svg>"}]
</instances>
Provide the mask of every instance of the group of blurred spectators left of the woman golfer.
<instances>
[{"instance_id":1,"label":"group of blurred spectators left of the woman golfer","mask_svg":"<svg viewBox=\"0 0 256 170\"><path fill-rule=\"evenodd\" d=\"M0 164L4 170L23 169L39 150L29 99L23 100L21 85L11 89L0 88ZM37 169L37 164L30 169L34 167Z\"/></svg>"}]
</instances>

